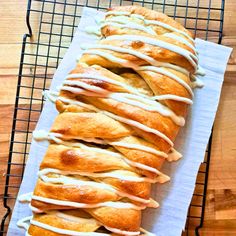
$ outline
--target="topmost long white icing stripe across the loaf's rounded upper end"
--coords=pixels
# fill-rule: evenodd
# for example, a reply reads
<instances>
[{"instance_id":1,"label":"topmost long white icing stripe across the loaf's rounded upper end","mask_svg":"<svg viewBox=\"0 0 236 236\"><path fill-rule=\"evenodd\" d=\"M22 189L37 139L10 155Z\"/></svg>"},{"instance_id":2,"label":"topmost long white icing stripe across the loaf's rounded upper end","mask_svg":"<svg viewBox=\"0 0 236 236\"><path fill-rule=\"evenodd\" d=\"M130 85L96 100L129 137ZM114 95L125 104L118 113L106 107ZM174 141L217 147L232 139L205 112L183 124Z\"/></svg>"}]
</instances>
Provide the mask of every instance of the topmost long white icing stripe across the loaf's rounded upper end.
<instances>
[{"instance_id":1,"label":"topmost long white icing stripe across the loaf's rounded upper end","mask_svg":"<svg viewBox=\"0 0 236 236\"><path fill-rule=\"evenodd\" d=\"M193 38L190 37L186 32L182 31L182 30L179 30L179 29L176 29L175 27L171 26L171 25L168 25L162 21L157 21L157 20L146 20L142 15L139 15L139 14L131 14L130 12L122 12L122 11L108 11L106 13L106 16L108 15L115 15L115 16L121 16L121 15L124 15L124 16L133 16L133 17L136 17L140 20L143 20L144 24L146 25L158 25L158 26L161 26L165 29L168 29L170 31L173 31L173 32L177 32L179 34L182 34L184 35L185 37L187 37L189 40L193 41Z\"/></svg>"}]
</instances>

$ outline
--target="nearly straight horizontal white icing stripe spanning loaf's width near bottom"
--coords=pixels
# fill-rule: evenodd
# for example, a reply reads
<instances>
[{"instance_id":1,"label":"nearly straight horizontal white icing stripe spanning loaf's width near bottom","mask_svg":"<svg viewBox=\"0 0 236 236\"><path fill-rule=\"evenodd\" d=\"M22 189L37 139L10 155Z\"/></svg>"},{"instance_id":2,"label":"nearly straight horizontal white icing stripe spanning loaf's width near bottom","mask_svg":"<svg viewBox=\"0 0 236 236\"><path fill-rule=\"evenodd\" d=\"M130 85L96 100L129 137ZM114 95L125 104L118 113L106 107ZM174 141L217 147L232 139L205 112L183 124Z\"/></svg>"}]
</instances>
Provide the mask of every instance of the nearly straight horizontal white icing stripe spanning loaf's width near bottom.
<instances>
[{"instance_id":1,"label":"nearly straight horizontal white icing stripe spanning loaf's width near bottom","mask_svg":"<svg viewBox=\"0 0 236 236\"><path fill-rule=\"evenodd\" d=\"M79 202L71 202L71 201L63 201L63 200L57 200L57 199L52 199L52 198L46 198L46 197L41 197L41 196L32 196L33 200L40 201L40 202L45 202L49 204L54 204L54 205L59 205L59 206L70 206L70 207L75 207L75 208L97 208L97 207L113 207L113 208L118 208L118 209L135 209L135 210L142 210L145 209L146 206L137 206L132 203L128 202L101 202L101 203L96 203L96 204L87 204L87 203L79 203Z\"/></svg>"}]
</instances>

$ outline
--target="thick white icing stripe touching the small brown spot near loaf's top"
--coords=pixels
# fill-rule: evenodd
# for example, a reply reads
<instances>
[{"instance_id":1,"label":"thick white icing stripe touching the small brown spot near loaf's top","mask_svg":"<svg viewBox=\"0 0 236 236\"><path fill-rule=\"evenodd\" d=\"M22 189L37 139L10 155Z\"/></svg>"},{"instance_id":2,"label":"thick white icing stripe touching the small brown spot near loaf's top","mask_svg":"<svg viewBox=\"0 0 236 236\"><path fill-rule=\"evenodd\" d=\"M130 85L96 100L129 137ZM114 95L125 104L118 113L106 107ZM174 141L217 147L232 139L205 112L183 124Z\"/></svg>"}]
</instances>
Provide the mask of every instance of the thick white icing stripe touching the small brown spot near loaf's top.
<instances>
[{"instance_id":1,"label":"thick white icing stripe touching the small brown spot near loaf's top","mask_svg":"<svg viewBox=\"0 0 236 236\"><path fill-rule=\"evenodd\" d=\"M198 58L190 51L188 51L184 48L181 48L177 45L167 43L162 40L149 38L146 36L139 36L139 35L112 35L112 36L109 36L109 37L103 39L103 41L110 41L110 40L124 40L124 41L134 41L134 42L141 41L141 42L144 42L147 44L151 44L153 46L165 48L167 50L170 50L172 52L175 52L175 53L185 57L190 62L190 64L194 67L194 69L197 70Z\"/></svg>"}]
</instances>

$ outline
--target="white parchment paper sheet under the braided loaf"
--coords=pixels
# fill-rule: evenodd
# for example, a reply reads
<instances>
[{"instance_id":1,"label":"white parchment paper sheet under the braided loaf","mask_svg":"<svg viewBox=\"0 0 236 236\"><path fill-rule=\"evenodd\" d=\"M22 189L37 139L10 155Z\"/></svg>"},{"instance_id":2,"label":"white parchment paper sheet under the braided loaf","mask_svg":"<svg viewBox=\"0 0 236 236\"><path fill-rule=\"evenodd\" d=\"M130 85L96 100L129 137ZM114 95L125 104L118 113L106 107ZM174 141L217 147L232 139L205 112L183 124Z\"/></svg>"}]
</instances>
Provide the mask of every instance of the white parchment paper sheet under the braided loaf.
<instances>
[{"instance_id":1,"label":"white parchment paper sheet under the braided loaf","mask_svg":"<svg viewBox=\"0 0 236 236\"><path fill-rule=\"evenodd\" d=\"M55 89L65 76L76 65L76 58L81 54L81 43L94 42L92 35L85 33L88 25L95 24L95 16L104 13L85 8L74 39L64 59L59 65L51 85ZM199 165L204 159L206 146L211 133L221 86L231 48L196 39L200 65L206 75L202 78L205 86L195 89L194 104L191 107L185 127L179 133L175 148L183 154L178 162L166 163L162 171L171 177L166 184L153 186L152 195L160 203L158 209L146 209L143 212L142 227L158 236L181 235L184 229L187 210L195 188ZM50 130L57 115L54 104L47 101L40 116L36 129ZM37 180L39 164L45 154L48 142L32 141L29 159L24 173L19 194L32 192ZM28 204L16 202L8 235L24 235L24 230L16 226L16 222L31 215Z\"/></svg>"}]
</instances>

